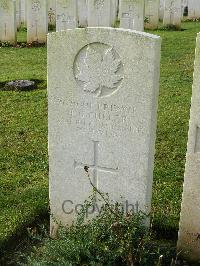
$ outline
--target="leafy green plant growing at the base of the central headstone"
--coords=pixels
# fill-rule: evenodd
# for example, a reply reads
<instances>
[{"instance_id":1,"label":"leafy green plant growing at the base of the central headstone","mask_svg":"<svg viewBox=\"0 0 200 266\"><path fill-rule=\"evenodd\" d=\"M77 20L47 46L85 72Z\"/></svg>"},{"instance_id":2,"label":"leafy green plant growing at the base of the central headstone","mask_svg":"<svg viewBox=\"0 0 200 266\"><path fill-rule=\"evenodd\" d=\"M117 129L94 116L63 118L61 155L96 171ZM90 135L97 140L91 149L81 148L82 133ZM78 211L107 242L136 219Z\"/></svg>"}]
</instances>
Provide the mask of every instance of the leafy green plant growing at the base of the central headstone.
<instances>
[{"instance_id":1,"label":"leafy green plant growing at the base of the central headstone","mask_svg":"<svg viewBox=\"0 0 200 266\"><path fill-rule=\"evenodd\" d=\"M69 228L60 227L56 239L47 239L28 259L28 265L156 265L162 248L145 225L147 215L124 213L94 188L103 199L99 214L87 221L95 195L85 201Z\"/></svg>"}]
</instances>

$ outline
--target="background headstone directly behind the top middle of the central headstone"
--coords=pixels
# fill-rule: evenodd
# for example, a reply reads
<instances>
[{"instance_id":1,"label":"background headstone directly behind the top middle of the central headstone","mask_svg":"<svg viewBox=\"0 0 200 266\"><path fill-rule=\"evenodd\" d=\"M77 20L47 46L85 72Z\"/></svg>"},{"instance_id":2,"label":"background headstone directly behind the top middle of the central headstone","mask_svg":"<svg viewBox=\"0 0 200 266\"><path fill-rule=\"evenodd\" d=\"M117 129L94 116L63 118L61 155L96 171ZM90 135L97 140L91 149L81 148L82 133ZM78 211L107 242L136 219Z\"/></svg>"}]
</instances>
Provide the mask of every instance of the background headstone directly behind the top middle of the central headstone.
<instances>
[{"instance_id":1,"label":"background headstone directly behind the top middle of the central headstone","mask_svg":"<svg viewBox=\"0 0 200 266\"><path fill-rule=\"evenodd\" d=\"M111 0L87 0L88 1L88 26L111 26Z\"/></svg>"}]
</instances>

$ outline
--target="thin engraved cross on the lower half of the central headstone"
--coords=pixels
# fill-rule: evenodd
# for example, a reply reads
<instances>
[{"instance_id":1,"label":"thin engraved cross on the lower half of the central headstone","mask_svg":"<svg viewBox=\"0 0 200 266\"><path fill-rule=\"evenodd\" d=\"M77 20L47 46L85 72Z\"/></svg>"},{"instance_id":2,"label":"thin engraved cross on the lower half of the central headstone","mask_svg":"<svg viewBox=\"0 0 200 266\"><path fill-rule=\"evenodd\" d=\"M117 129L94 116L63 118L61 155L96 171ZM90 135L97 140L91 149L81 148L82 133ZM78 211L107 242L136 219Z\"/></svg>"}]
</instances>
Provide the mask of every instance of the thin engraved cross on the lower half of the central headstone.
<instances>
[{"instance_id":1,"label":"thin engraved cross on the lower half of the central headstone","mask_svg":"<svg viewBox=\"0 0 200 266\"><path fill-rule=\"evenodd\" d=\"M108 168L108 167L102 167L99 165L99 142L98 141L93 141L94 144L94 161L92 165L89 164L83 164L83 163L78 163L76 160L74 160L74 170L77 168L84 168L86 171L89 169L92 169L93 171L93 185L95 188L98 189L98 172L105 172L105 173L117 173L118 172L118 167L117 168Z\"/></svg>"}]
</instances>

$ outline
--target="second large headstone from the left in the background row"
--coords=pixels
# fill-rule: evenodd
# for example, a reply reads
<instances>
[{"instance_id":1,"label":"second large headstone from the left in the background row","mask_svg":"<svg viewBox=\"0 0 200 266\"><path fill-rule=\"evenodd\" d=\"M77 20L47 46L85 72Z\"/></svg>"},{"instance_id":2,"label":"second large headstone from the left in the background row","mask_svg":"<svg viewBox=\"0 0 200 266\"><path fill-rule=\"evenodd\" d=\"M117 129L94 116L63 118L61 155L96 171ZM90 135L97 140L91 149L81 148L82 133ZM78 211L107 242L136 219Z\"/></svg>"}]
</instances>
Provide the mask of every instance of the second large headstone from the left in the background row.
<instances>
[{"instance_id":1,"label":"second large headstone from the left in the background row","mask_svg":"<svg viewBox=\"0 0 200 266\"><path fill-rule=\"evenodd\" d=\"M47 0L27 0L27 42L46 42L48 33Z\"/></svg>"}]
</instances>

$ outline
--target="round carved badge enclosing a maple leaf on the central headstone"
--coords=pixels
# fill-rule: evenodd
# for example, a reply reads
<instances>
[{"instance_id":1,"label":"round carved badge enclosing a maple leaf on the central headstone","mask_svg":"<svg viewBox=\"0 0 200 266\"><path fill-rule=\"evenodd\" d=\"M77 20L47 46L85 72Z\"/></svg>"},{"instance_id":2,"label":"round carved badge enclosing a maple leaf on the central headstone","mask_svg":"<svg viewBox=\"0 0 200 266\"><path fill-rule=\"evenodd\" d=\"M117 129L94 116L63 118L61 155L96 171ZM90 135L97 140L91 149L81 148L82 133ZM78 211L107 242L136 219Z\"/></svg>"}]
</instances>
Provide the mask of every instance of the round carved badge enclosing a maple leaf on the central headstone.
<instances>
[{"instance_id":1,"label":"round carved badge enclosing a maple leaf on the central headstone","mask_svg":"<svg viewBox=\"0 0 200 266\"><path fill-rule=\"evenodd\" d=\"M119 89L123 65L113 47L91 43L83 47L74 62L74 76L80 88L96 97L105 97Z\"/></svg>"}]
</instances>

